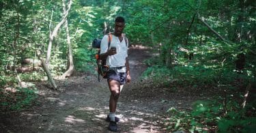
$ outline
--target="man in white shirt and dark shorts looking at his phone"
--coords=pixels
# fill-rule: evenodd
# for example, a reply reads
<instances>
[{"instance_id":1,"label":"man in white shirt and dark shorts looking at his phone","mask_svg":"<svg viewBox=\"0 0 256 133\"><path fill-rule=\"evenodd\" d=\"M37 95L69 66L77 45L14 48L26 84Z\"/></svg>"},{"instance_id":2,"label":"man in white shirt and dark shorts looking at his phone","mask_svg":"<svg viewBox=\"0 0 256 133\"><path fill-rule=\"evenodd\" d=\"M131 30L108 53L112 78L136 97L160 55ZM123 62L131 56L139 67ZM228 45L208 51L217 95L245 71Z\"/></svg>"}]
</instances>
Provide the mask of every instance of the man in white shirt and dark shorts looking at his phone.
<instances>
[{"instance_id":1,"label":"man in white shirt and dark shorts looking at his phone","mask_svg":"<svg viewBox=\"0 0 256 133\"><path fill-rule=\"evenodd\" d=\"M112 33L111 44L109 46L109 35L104 35L100 44L100 59L106 59L109 65L107 72L107 82L111 96L109 98L109 130L117 131L117 120L115 110L120 92L124 83L130 83L130 68L128 64L128 40L123 34L125 20L118 16L115 18L115 31Z\"/></svg>"}]
</instances>

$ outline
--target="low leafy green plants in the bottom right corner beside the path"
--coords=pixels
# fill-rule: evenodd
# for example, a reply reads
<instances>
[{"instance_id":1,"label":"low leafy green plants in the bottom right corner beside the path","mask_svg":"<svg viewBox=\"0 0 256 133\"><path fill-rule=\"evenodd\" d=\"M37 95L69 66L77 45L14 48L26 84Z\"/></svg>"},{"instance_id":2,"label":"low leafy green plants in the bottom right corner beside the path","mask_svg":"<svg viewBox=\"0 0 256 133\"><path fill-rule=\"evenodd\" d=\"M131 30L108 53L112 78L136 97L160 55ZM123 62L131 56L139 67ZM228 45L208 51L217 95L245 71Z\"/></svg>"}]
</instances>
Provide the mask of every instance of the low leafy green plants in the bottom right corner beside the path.
<instances>
[{"instance_id":1,"label":"low leafy green plants in the bottom right corner beside the path","mask_svg":"<svg viewBox=\"0 0 256 133\"><path fill-rule=\"evenodd\" d=\"M253 132L255 130L256 114L251 112L255 108L241 109L240 106L233 106L233 104L238 104L236 101L230 100L227 105L227 113L223 113L222 102L219 98L196 101L191 112L169 108L170 118L169 121L166 121L168 129L190 132L213 132L216 130L218 132ZM215 127L216 125L218 128Z\"/></svg>"}]
</instances>

